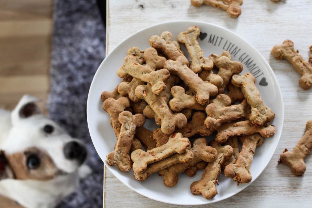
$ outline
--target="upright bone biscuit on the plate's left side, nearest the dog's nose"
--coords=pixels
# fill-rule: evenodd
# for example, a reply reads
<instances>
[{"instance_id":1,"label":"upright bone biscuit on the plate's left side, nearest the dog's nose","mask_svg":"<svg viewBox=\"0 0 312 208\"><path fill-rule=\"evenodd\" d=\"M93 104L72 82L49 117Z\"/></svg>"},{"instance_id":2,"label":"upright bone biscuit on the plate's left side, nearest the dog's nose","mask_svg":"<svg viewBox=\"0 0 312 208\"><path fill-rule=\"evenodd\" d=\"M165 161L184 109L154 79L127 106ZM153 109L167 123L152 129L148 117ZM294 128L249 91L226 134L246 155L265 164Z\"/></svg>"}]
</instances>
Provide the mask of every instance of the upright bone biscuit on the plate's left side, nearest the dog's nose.
<instances>
[{"instance_id":1,"label":"upright bone biscuit on the plate's left side, nearest the dog's nose","mask_svg":"<svg viewBox=\"0 0 312 208\"><path fill-rule=\"evenodd\" d=\"M119 122L121 123L121 130L115 145L115 151L110 152L106 159L109 165L118 165L120 171L127 172L131 169L129 151L134 138L135 128L143 126L145 117L142 114L132 115L129 111L123 111L119 114Z\"/></svg>"}]
</instances>

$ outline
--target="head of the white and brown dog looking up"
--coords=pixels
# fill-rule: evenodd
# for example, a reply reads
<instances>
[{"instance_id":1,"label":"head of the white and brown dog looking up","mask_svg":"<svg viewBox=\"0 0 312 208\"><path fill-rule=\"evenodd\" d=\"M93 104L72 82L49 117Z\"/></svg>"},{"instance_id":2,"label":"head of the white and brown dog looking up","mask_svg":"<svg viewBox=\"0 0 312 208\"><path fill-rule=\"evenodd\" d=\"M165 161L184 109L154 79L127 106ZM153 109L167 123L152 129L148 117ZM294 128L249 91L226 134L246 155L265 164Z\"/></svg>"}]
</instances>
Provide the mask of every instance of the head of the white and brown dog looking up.
<instances>
[{"instance_id":1,"label":"head of the white and brown dog looking up","mask_svg":"<svg viewBox=\"0 0 312 208\"><path fill-rule=\"evenodd\" d=\"M37 101L29 95L22 97L12 111L12 127L1 147L0 169L9 168L4 172L16 179L49 180L72 173L87 156L84 144L46 118Z\"/></svg>"}]
</instances>

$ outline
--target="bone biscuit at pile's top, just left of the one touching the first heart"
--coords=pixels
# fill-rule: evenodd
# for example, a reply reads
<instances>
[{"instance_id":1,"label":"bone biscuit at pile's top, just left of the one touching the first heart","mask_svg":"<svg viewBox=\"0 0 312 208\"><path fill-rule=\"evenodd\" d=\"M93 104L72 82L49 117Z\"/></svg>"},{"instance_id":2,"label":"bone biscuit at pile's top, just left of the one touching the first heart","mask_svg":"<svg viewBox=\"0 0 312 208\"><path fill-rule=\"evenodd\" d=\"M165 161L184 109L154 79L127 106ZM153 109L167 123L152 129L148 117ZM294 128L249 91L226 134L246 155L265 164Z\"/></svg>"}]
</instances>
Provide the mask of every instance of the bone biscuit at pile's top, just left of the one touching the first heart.
<instances>
[{"instance_id":1,"label":"bone biscuit at pile's top, just left of the one touching the first heart","mask_svg":"<svg viewBox=\"0 0 312 208\"><path fill-rule=\"evenodd\" d=\"M162 51L168 59L176 60L179 56L184 56L180 50L178 43L173 41L171 32L163 32L160 37L157 35L152 36L149 39L149 44L156 50Z\"/></svg>"}]
</instances>

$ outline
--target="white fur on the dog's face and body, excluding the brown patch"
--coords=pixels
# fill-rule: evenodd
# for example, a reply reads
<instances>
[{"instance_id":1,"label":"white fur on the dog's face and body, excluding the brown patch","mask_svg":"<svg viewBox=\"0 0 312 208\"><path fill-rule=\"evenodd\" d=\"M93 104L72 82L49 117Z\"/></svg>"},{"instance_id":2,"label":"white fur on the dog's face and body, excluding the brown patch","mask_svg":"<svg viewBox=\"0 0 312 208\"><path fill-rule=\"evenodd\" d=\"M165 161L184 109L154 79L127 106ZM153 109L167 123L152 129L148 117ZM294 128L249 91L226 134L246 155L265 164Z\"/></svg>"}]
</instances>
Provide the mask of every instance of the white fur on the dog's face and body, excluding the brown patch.
<instances>
[{"instance_id":1,"label":"white fur on the dog's face and body, excluding the brown patch","mask_svg":"<svg viewBox=\"0 0 312 208\"><path fill-rule=\"evenodd\" d=\"M25 207L49 208L56 206L63 197L75 191L79 179L86 177L91 170L86 165L79 167L75 161L66 160L64 156L64 145L74 140L80 142L79 140L71 138L55 122L42 114L28 118L19 116L22 106L36 101L37 98L24 96L12 113L0 109L0 149L4 150L6 155L10 155L35 146L46 151L57 168L67 174L56 176L49 181L4 179L0 181L0 195ZM55 128L51 135L42 130L46 124Z\"/></svg>"}]
</instances>

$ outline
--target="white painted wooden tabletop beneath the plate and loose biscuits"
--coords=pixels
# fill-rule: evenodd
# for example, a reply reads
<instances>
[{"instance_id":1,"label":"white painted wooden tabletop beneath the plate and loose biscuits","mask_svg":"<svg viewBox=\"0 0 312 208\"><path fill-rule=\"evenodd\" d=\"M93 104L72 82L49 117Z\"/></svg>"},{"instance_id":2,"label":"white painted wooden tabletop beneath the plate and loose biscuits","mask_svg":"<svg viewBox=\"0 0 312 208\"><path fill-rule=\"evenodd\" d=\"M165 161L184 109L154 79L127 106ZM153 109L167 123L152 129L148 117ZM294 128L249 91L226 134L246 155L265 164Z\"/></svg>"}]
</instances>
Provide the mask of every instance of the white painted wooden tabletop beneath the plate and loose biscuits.
<instances>
[{"instance_id":1,"label":"white painted wooden tabletop beneath the plate and loose biscuits","mask_svg":"<svg viewBox=\"0 0 312 208\"><path fill-rule=\"evenodd\" d=\"M134 32L177 20L213 23L245 38L266 58L279 81L285 106L284 128L274 156L256 181L237 195L209 207L311 207L311 154L305 159L307 170L302 177L293 176L289 167L278 165L277 160L286 147L295 146L304 134L306 121L312 119L312 89L301 89L299 74L288 62L275 60L270 51L274 45L291 39L295 49L304 58L309 57L312 1L245 0L241 9L241 16L234 19L218 8L193 7L189 0L107 0L107 53ZM137 194L106 169L104 176L103 207L178 207Z\"/></svg>"}]
</instances>

